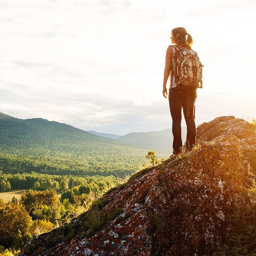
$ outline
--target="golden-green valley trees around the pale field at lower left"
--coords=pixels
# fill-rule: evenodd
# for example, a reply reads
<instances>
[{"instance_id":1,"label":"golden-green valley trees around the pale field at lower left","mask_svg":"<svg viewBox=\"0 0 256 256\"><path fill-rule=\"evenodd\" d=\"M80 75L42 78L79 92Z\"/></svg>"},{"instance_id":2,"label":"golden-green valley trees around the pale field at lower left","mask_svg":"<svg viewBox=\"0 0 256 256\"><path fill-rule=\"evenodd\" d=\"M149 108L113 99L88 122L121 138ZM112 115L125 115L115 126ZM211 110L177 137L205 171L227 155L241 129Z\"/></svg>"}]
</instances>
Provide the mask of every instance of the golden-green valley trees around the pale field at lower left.
<instances>
[{"instance_id":1,"label":"golden-green valley trees around the pale field at lower left","mask_svg":"<svg viewBox=\"0 0 256 256\"><path fill-rule=\"evenodd\" d=\"M0 255L9 255L8 248L16 255L31 238L68 223L121 182L114 176L0 173L2 192L32 188L24 191L19 201L15 197L8 203L0 199ZM62 192L60 200L56 191Z\"/></svg>"}]
</instances>

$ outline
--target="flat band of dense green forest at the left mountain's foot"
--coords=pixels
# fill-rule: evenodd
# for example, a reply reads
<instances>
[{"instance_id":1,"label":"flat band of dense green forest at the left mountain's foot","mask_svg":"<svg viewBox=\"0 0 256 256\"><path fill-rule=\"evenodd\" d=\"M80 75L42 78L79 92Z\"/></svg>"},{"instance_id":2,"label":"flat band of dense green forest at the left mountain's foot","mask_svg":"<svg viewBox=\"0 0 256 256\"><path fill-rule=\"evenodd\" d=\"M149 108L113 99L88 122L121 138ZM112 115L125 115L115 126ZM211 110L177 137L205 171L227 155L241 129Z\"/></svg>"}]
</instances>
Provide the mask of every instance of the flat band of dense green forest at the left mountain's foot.
<instances>
[{"instance_id":1,"label":"flat band of dense green forest at the left mountain's foot","mask_svg":"<svg viewBox=\"0 0 256 256\"><path fill-rule=\"evenodd\" d=\"M0 153L0 171L4 173L44 173L57 175L102 175L124 176L136 170L140 161L138 159L124 160L112 158L102 159L73 159L50 156L29 156Z\"/></svg>"}]
</instances>

